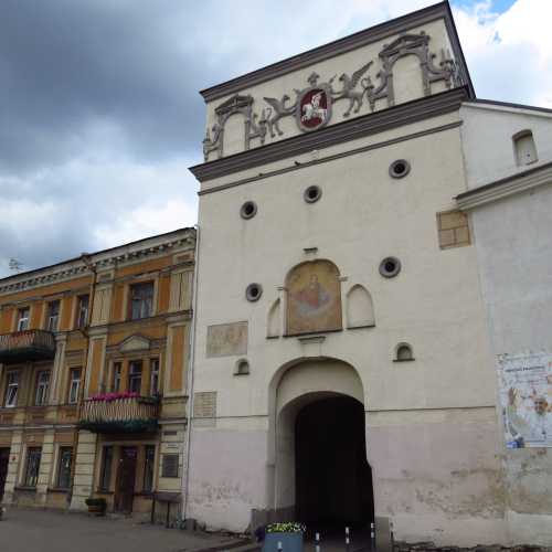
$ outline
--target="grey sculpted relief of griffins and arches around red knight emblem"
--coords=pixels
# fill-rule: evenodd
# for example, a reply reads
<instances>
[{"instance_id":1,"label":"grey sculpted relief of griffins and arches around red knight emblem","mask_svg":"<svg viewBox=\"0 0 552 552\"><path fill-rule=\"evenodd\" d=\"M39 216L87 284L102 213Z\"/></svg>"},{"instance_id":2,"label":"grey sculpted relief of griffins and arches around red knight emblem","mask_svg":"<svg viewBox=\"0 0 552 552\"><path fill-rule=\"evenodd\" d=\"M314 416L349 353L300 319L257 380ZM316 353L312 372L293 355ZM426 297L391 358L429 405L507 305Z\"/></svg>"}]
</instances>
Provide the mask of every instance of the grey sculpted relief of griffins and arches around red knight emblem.
<instances>
[{"instance_id":1,"label":"grey sculpted relief of griffins and arches around red knight emblem","mask_svg":"<svg viewBox=\"0 0 552 552\"><path fill-rule=\"evenodd\" d=\"M279 126L284 117L295 117L299 130L310 132L330 123L332 106L340 100L349 100L342 113L343 118L359 114L364 104L368 104L370 113L374 112L379 99L386 100L386 107L394 106L393 66L406 55L415 55L420 60L420 75L425 96L432 94L432 83L437 81L444 82L447 88L461 86L464 83L454 59L442 50L440 61L436 65L437 54L429 52L429 35L422 31L420 34L402 34L392 43L384 44L378 55L380 70L375 74L376 84L373 84L369 74L374 61L369 60L352 74L342 73L339 77L332 75L326 82L319 82L320 75L312 72L307 78L308 86L294 88L294 99L288 94L280 98L263 97L261 114L254 110L253 96L232 96L214 110L216 121L211 130L208 129L203 140L205 161L212 151L217 153L217 158L223 157L224 126L234 114L241 114L245 119L244 150L247 150L253 139L258 139L259 144L264 145L268 136L270 139L284 136L285 132Z\"/></svg>"}]
</instances>

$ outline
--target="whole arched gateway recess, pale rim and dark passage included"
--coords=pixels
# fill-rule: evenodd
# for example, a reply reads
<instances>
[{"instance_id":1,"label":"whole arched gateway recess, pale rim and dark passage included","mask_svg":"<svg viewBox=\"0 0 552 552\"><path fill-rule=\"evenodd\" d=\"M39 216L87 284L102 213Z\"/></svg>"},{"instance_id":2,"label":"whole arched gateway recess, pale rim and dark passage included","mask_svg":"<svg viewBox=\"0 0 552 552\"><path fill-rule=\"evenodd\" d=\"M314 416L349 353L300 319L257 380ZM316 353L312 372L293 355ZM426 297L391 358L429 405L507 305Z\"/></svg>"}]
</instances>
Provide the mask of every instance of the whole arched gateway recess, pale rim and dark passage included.
<instances>
[{"instance_id":1,"label":"whole arched gateway recess, pale rim and dark passage included","mask_svg":"<svg viewBox=\"0 0 552 552\"><path fill-rule=\"evenodd\" d=\"M276 385L277 519L311 529L369 526L372 474L357 371L342 361L312 359L288 367Z\"/></svg>"}]
</instances>

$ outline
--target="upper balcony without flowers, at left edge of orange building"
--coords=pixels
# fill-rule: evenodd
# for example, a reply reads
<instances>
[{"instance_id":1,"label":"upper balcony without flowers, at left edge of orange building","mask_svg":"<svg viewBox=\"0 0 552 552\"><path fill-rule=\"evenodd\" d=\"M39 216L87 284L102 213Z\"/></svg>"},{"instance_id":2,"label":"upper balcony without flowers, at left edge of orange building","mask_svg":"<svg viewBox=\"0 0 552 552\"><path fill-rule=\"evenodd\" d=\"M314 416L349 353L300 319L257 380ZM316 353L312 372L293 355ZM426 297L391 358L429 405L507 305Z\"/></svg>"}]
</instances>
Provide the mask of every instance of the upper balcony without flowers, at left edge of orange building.
<instances>
[{"instance_id":1,"label":"upper balcony without flowers, at left edge of orange building","mask_svg":"<svg viewBox=\"0 0 552 552\"><path fill-rule=\"evenodd\" d=\"M51 331L23 330L0 336L0 363L52 360L55 339Z\"/></svg>"}]
</instances>

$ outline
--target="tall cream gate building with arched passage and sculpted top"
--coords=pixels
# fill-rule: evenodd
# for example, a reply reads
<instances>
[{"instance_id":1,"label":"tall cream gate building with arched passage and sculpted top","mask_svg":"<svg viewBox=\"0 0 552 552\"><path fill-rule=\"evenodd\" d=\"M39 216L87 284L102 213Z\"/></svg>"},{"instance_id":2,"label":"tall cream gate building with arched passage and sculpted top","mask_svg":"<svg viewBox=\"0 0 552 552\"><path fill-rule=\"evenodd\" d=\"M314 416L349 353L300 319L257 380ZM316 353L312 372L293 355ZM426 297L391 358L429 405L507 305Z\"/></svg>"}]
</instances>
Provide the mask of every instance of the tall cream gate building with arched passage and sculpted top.
<instances>
[{"instance_id":1,"label":"tall cream gate building with arched passage and sculpted top","mask_svg":"<svg viewBox=\"0 0 552 552\"><path fill-rule=\"evenodd\" d=\"M446 2L202 96L185 514L552 539L546 448L540 489L506 454L467 201L552 159L550 114L476 98Z\"/></svg>"}]
</instances>

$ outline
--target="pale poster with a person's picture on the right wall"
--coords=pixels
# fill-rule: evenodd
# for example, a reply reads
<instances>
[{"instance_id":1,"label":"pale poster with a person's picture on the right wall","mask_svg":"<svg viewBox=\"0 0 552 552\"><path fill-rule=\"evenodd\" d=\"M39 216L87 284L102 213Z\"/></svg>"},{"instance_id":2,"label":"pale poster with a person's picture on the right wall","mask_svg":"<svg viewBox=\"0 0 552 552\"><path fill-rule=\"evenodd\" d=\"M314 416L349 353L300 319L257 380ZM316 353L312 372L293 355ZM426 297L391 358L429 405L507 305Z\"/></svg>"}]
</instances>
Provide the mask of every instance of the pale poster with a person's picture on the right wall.
<instances>
[{"instance_id":1,"label":"pale poster with a person's picture on the right wall","mask_svg":"<svg viewBox=\"0 0 552 552\"><path fill-rule=\"evenodd\" d=\"M499 354L508 448L552 447L552 354Z\"/></svg>"}]
</instances>

